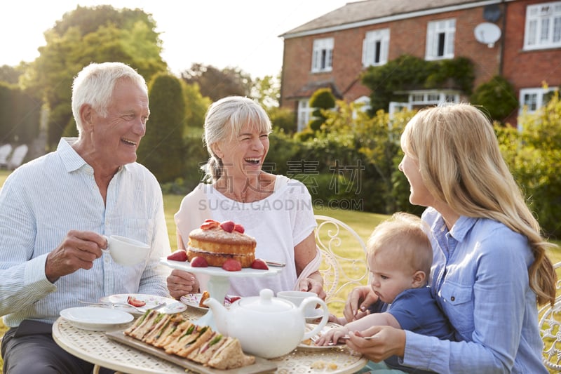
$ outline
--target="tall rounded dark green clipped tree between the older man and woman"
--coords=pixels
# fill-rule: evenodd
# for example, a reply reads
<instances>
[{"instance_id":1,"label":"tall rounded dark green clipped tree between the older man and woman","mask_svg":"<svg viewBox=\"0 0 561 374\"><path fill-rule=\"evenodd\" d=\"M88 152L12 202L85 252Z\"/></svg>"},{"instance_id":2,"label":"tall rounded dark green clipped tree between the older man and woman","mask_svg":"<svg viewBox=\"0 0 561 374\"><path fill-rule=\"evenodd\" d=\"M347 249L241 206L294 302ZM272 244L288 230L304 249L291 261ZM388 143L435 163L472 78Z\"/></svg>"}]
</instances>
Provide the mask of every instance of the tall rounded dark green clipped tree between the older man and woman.
<instances>
[{"instance_id":1,"label":"tall rounded dark green clipped tree between the older man and woman","mask_svg":"<svg viewBox=\"0 0 561 374\"><path fill-rule=\"evenodd\" d=\"M149 86L150 118L138 148L138 161L159 182L172 182L183 171L185 101L177 77L156 74Z\"/></svg>"}]
</instances>

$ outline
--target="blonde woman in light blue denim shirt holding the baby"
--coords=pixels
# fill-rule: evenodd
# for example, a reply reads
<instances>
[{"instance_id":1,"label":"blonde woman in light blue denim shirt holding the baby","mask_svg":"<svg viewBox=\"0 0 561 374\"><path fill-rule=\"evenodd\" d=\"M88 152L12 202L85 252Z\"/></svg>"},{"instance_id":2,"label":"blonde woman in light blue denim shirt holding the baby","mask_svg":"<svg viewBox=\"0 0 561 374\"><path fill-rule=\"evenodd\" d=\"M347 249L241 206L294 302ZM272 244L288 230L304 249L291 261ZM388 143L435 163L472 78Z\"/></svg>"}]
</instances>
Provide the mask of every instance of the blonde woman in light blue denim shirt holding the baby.
<instances>
[{"instance_id":1,"label":"blonde woman in light blue denim shirt holding the baby","mask_svg":"<svg viewBox=\"0 0 561 374\"><path fill-rule=\"evenodd\" d=\"M401 147L410 202L427 207L431 288L459 341L377 326L351 332L347 344L372 361L397 355L404 366L438 373L547 373L537 305L555 299L545 254L552 244L508 171L492 124L467 104L424 109L407 123ZM374 297L354 290L345 316Z\"/></svg>"}]
</instances>

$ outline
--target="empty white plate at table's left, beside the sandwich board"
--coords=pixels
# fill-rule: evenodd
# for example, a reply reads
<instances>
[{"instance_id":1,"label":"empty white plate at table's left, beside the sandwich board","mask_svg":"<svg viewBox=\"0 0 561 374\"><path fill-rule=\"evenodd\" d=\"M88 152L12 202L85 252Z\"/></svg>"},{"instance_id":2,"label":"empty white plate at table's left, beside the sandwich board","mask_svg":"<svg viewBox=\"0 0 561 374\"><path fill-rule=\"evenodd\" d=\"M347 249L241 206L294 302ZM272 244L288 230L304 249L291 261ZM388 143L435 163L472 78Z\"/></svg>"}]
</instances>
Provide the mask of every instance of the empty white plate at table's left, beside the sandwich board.
<instances>
[{"instance_id":1,"label":"empty white plate at table's left, beside the sandwich board","mask_svg":"<svg viewBox=\"0 0 561 374\"><path fill-rule=\"evenodd\" d=\"M132 314L122 310L96 307L67 308L60 311L60 316L77 328L94 331L122 328L135 319Z\"/></svg>"}]
</instances>

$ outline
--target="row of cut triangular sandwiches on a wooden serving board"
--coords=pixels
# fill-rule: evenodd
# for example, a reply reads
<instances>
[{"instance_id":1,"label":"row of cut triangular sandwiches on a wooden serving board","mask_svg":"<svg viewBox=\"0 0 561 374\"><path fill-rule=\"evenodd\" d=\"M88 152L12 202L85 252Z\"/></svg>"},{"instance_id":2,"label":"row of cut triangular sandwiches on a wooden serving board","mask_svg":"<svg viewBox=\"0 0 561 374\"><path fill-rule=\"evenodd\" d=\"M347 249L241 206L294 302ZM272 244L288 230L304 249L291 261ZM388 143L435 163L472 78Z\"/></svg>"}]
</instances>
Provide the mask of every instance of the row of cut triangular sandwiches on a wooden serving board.
<instances>
[{"instance_id":1,"label":"row of cut triangular sandwiches on a wooden serving board","mask_svg":"<svg viewBox=\"0 0 561 374\"><path fill-rule=\"evenodd\" d=\"M105 334L197 373L269 373L277 367L273 361L245 354L238 339L198 326L181 314L151 311L126 329Z\"/></svg>"}]
</instances>

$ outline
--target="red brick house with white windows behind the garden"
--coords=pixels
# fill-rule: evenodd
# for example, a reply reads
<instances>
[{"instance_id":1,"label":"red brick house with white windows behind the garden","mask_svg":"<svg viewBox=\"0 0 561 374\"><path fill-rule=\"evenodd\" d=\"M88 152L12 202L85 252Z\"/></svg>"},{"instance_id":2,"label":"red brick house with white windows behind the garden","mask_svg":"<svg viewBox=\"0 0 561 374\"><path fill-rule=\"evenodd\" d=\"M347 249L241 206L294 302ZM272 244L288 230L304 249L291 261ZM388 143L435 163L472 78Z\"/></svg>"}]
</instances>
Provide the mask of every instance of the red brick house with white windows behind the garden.
<instances>
[{"instance_id":1,"label":"red brick house with white windows behind the garden","mask_svg":"<svg viewBox=\"0 0 561 374\"><path fill-rule=\"evenodd\" d=\"M280 37L280 107L297 114L298 131L310 119L309 98L318 88L331 88L338 99L367 105L370 89L361 84L360 74L400 55L469 58L475 67L474 89L495 75L503 76L520 103L506 119L513 124L524 105L534 112L544 95L561 85L561 1L356 1ZM386 110L468 101L454 88L405 94L407 102L391 102Z\"/></svg>"}]
</instances>

